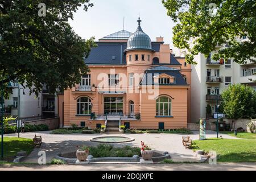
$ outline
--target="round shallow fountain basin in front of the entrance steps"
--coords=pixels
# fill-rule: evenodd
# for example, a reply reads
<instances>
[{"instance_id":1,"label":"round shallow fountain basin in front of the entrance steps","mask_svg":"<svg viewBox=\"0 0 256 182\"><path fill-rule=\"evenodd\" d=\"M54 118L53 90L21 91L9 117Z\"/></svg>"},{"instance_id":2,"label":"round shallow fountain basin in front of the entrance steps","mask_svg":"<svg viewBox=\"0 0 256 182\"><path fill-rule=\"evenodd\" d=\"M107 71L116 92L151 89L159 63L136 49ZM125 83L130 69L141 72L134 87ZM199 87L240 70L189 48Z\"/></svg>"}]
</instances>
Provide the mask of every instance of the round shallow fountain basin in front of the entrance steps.
<instances>
[{"instance_id":1,"label":"round shallow fountain basin in front of the entrance steps","mask_svg":"<svg viewBox=\"0 0 256 182\"><path fill-rule=\"evenodd\" d=\"M90 139L91 142L98 142L98 143L127 143L127 142L133 142L134 139L130 137L96 137Z\"/></svg>"}]
</instances>

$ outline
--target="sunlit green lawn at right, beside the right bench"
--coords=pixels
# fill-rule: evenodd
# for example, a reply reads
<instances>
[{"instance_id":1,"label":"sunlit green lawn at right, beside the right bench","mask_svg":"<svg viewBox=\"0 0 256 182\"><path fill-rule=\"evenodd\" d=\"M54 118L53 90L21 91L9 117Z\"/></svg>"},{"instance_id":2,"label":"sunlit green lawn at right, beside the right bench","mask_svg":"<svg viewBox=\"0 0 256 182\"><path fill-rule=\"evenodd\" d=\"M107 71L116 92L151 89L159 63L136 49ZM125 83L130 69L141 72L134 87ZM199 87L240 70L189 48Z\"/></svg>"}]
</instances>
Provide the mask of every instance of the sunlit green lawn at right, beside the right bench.
<instances>
[{"instance_id":1,"label":"sunlit green lawn at right, beside the right bench","mask_svg":"<svg viewBox=\"0 0 256 182\"><path fill-rule=\"evenodd\" d=\"M256 140L217 139L195 140L193 150L216 151L217 162L256 162Z\"/></svg>"}]
</instances>

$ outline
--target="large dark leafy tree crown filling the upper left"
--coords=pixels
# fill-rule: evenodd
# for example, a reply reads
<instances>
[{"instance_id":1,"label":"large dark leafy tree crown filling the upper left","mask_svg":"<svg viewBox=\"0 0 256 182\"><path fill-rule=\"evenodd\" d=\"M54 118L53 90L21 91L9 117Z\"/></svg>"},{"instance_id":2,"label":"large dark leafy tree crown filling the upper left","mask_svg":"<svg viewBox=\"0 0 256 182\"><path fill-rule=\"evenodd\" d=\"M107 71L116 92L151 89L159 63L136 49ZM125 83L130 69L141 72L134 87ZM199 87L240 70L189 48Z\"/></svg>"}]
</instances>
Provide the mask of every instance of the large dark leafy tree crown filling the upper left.
<instances>
[{"instance_id":1,"label":"large dark leafy tree crown filling the upper left","mask_svg":"<svg viewBox=\"0 0 256 182\"><path fill-rule=\"evenodd\" d=\"M39 16L40 3L46 5L45 16ZM84 58L96 46L94 38L82 39L68 23L81 6L87 11L93 4L89 0L1 1L0 84L18 78L38 94L42 84L55 92L80 82L81 75L89 72Z\"/></svg>"}]
</instances>

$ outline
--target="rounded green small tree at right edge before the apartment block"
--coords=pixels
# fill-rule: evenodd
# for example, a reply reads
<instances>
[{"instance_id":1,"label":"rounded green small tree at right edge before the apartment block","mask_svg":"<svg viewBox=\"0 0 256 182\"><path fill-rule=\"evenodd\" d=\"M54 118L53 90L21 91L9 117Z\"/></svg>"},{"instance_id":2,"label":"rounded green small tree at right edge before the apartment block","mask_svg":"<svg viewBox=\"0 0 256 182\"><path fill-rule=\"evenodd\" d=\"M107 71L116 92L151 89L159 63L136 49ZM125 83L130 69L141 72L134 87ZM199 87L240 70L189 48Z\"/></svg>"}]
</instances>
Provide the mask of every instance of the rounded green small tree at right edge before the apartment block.
<instances>
[{"instance_id":1,"label":"rounded green small tree at right edge before the apartment block","mask_svg":"<svg viewBox=\"0 0 256 182\"><path fill-rule=\"evenodd\" d=\"M227 118L251 118L256 114L256 92L250 86L234 84L221 94L223 111Z\"/></svg>"}]
</instances>

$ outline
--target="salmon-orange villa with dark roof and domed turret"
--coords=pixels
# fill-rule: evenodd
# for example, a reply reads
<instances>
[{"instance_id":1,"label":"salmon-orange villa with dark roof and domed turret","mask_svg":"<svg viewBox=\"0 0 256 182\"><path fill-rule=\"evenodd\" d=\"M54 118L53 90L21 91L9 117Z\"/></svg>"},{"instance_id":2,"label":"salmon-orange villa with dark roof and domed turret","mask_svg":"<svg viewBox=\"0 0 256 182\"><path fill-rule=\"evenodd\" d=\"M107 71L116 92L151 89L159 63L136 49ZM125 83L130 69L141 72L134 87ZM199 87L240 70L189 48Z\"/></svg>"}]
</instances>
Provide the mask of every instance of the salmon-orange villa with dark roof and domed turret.
<instances>
[{"instance_id":1,"label":"salmon-orange villa with dark roof and domed turret","mask_svg":"<svg viewBox=\"0 0 256 182\"><path fill-rule=\"evenodd\" d=\"M74 123L136 129L177 129L190 121L191 65L175 57L163 38L151 42L141 28L100 39L80 84L59 94L63 127ZM110 125L111 123L111 125ZM109 131L112 131L109 129Z\"/></svg>"}]
</instances>

